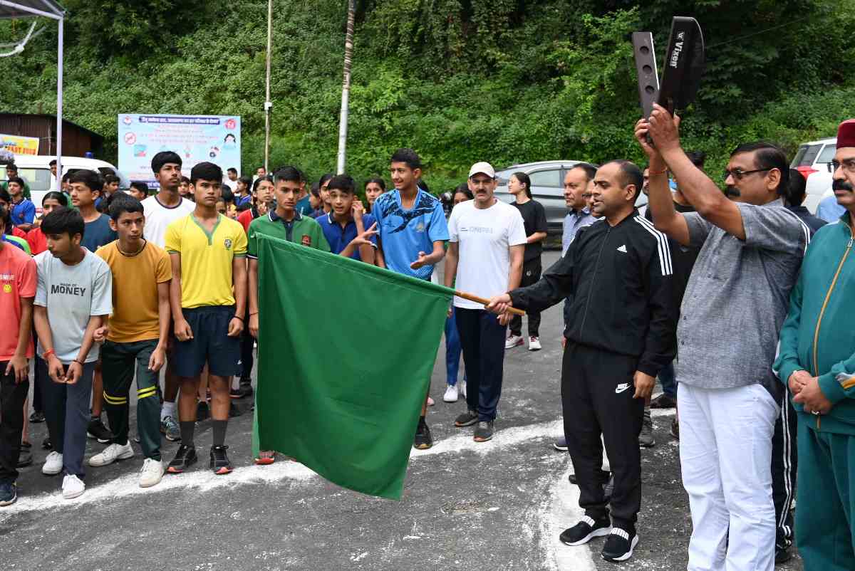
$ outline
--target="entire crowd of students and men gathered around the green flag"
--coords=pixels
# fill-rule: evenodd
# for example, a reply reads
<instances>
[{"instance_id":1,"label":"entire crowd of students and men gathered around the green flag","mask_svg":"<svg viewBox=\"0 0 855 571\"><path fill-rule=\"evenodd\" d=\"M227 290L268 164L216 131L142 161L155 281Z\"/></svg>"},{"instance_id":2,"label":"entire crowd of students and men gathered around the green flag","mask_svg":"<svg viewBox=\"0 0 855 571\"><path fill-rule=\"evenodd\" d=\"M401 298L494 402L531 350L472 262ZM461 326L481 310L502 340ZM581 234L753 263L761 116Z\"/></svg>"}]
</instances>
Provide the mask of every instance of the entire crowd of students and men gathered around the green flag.
<instances>
[{"instance_id":1,"label":"entire crowd of students and men gathered around the green flag","mask_svg":"<svg viewBox=\"0 0 855 571\"><path fill-rule=\"evenodd\" d=\"M804 179L774 144L735 149L722 192L704 157L682 150L679 118L667 110L657 106L634 134L645 168L616 160L567 171L563 255L543 275L545 213L530 180L511 176L515 201L499 201L488 162L475 163L450 194L450 213L426 190L409 149L390 159L392 190L381 179L365 184L367 208L346 174L325 174L307 190L295 167L259 169L255 180L229 169L232 191L209 162L182 176L171 151L152 159L155 196L78 171L68 195L44 197L38 221L17 198L23 185L10 180L14 196L0 204L0 303L10 323L0 339L0 505L15 501L16 468L26 463L32 358L32 421L44 415L53 449L42 472L63 474L62 497L85 492L85 463L135 455L134 379L139 486L198 461L202 412L212 419L209 468L233 470L227 423L231 398L252 394L257 243L267 235L420 280L437 280L441 262L445 286L489 298L485 307L454 297L445 324L444 400L465 399L454 424L474 427L477 442L496 431L504 352L525 344L509 309L527 311L528 349L538 350L540 311L564 302L556 447L569 450L585 516L563 543L606 536L605 559L632 556L650 408L677 406L671 432L692 511L689 568L770 569L790 556L793 537L806 568L855 568L855 329L847 321L855 309L855 120L838 132L834 194L844 214L828 225L801 207ZM649 197L643 213L640 192ZM651 400L657 377L664 391ZM429 401L417 449L433 445ZM85 462L87 434L108 446ZM162 435L180 440L168 462ZM274 460L272 450L255 458ZM796 481L805 507L793 525Z\"/></svg>"}]
</instances>

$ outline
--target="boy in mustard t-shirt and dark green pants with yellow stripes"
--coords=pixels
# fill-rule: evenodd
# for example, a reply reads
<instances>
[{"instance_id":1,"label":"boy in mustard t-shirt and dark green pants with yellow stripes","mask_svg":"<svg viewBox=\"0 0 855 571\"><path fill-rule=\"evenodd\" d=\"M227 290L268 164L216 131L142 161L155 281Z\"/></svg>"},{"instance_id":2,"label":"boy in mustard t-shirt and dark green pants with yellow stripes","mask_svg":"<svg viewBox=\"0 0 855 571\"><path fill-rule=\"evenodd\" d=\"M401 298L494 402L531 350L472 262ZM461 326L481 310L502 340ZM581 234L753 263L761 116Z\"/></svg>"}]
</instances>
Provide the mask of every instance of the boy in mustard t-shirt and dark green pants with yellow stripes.
<instances>
[{"instance_id":1,"label":"boy in mustard t-shirt and dark green pants with yellow stripes","mask_svg":"<svg viewBox=\"0 0 855 571\"><path fill-rule=\"evenodd\" d=\"M143 238L142 203L120 193L109 206L109 225L119 239L98 248L113 274L113 315L95 334L101 348L103 398L110 432L109 446L89 458L92 467L133 458L127 439L127 394L137 376L137 427L145 460L139 486L155 486L163 477L160 435L159 371L166 361L169 335L169 282L172 265L165 250Z\"/></svg>"}]
</instances>

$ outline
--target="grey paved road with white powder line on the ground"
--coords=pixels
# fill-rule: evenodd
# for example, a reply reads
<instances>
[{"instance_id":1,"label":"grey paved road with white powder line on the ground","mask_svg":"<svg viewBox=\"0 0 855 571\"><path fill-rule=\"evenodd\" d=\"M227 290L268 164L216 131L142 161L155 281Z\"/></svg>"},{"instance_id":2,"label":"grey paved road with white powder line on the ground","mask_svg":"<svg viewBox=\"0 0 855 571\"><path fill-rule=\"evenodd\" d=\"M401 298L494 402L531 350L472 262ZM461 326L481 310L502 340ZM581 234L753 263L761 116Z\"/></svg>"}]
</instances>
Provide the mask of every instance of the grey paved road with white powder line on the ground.
<instances>
[{"instance_id":1,"label":"grey paved road with white powder line on the ground","mask_svg":"<svg viewBox=\"0 0 855 571\"><path fill-rule=\"evenodd\" d=\"M555 259L548 252L545 266ZM545 312L539 353L508 351L498 432L489 443L473 442L471 428L453 427L465 404L442 403L440 350L431 386L437 404L428 413L436 444L414 451L400 502L344 490L294 462L251 466L247 414L229 423L233 474L215 476L199 462L147 491L137 486L137 456L89 468L85 494L63 501L59 477L39 471L46 455L39 450L19 480L18 503L0 509L2 567L613 569L598 555L602 539L575 548L557 542L580 515L578 490L567 481L569 458L551 447L562 430L560 320L560 307ZM625 569L686 568L691 522L670 419L656 417L657 445L642 453L641 540ZM32 441L40 443L44 431L35 425ZM209 422L199 427L197 444L204 456ZM87 456L103 445L89 448ZM165 457L176 448L164 441Z\"/></svg>"}]
</instances>

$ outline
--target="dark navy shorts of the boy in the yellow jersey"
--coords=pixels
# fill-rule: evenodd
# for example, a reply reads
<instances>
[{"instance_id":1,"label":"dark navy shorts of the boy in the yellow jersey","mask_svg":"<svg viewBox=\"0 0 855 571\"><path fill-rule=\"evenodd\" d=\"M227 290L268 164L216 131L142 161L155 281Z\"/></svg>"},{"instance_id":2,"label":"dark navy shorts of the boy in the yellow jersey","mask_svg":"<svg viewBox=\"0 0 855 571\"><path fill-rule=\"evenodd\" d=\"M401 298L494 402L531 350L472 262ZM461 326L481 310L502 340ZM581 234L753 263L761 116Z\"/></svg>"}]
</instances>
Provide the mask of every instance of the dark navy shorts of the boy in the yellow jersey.
<instances>
[{"instance_id":1,"label":"dark navy shorts of the boy in the yellow jersey","mask_svg":"<svg viewBox=\"0 0 855 571\"><path fill-rule=\"evenodd\" d=\"M234 317L233 305L209 305L182 309L193 338L173 338L173 371L180 377L198 377L205 363L217 377L240 374L240 338L228 336L228 323Z\"/></svg>"}]
</instances>

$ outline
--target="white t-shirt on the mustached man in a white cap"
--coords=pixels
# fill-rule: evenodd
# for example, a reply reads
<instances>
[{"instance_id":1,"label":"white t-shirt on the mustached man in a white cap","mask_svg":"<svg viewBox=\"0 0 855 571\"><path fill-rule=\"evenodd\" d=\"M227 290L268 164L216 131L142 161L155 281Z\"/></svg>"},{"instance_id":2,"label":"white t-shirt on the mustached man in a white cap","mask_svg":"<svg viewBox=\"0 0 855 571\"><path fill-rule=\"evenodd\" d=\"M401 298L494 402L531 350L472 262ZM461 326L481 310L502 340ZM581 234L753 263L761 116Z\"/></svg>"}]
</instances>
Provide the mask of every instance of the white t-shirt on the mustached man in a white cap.
<instances>
[{"instance_id":1,"label":"white t-shirt on the mustached man in a white cap","mask_svg":"<svg viewBox=\"0 0 855 571\"><path fill-rule=\"evenodd\" d=\"M457 291L490 298L508 291L510 246L526 243L520 211L497 200L476 209L474 200L459 203L448 219L451 242L457 242ZM481 303L454 298L454 307L484 309Z\"/></svg>"}]
</instances>

